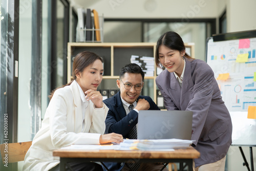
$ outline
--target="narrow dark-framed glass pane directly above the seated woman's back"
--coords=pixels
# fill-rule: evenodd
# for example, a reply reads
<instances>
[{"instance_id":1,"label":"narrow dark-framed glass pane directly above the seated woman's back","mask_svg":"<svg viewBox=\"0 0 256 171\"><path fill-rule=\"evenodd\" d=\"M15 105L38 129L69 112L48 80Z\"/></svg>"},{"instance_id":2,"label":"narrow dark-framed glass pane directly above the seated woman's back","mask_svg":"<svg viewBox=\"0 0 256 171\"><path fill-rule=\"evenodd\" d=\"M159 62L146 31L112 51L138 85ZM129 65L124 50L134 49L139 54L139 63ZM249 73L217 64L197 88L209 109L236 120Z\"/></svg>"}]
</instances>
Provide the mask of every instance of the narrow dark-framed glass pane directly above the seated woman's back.
<instances>
[{"instance_id":1,"label":"narrow dark-framed glass pane directly above the seated woman's back","mask_svg":"<svg viewBox=\"0 0 256 171\"><path fill-rule=\"evenodd\" d=\"M51 90L67 83L69 17L67 0L52 1Z\"/></svg>"}]
</instances>

